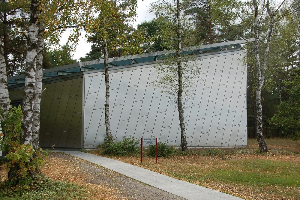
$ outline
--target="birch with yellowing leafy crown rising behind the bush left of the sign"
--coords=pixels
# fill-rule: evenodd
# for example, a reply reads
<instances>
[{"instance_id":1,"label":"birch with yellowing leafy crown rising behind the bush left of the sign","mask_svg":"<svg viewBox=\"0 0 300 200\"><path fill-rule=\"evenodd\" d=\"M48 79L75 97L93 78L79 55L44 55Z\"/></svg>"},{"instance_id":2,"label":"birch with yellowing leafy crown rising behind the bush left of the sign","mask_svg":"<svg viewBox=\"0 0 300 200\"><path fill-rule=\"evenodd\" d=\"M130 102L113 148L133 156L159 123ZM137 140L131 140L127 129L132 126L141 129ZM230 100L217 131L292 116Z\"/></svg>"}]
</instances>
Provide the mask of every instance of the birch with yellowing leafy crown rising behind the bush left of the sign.
<instances>
[{"instance_id":1,"label":"birch with yellowing leafy crown rising behind the bush left of the sign","mask_svg":"<svg viewBox=\"0 0 300 200\"><path fill-rule=\"evenodd\" d=\"M113 141L110 131L110 83L109 83L109 64L108 49L116 51L116 48L122 48L124 55L128 52L134 52L133 49L139 49L138 35L135 40L128 40L127 34L130 23L135 16L137 7L136 0L104 0L96 5L98 17L93 19L86 31L97 37L101 41L104 54L104 77L105 77L105 135L107 142ZM112 37L114 36L114 37ZM131 35L133 37L133 35ZM108 43L109 41L109 43Z\"/></svg>"}]
</instances>

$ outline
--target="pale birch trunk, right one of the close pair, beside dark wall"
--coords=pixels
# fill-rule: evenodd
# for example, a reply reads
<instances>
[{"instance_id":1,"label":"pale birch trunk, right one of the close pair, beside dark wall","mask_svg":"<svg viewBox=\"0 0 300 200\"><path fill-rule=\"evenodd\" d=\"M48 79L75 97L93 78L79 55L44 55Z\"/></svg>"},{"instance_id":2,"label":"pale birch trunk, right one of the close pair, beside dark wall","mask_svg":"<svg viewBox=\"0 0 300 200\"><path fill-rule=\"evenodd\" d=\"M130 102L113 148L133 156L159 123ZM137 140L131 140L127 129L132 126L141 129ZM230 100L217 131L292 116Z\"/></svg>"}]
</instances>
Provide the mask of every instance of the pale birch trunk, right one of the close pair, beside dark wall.
<instances>
[{"instance_id":1,"label":"pale birch trunk, right one of the close pair, beside dark wall","mask_svg":"<svg viewBox=\"0 0 300 200\"><path fill-rule=\"evenodd\" d=\"M40 22L38 33L38 48L37 48L37 63L35 73L35 102L33 106L32 117L32 146L35 148L39 145L40 136L40 117L41 117L41 96L42 96L42 81L43 81L43 53L44 53L44 24Z\"/></svg>"}]
</instances>

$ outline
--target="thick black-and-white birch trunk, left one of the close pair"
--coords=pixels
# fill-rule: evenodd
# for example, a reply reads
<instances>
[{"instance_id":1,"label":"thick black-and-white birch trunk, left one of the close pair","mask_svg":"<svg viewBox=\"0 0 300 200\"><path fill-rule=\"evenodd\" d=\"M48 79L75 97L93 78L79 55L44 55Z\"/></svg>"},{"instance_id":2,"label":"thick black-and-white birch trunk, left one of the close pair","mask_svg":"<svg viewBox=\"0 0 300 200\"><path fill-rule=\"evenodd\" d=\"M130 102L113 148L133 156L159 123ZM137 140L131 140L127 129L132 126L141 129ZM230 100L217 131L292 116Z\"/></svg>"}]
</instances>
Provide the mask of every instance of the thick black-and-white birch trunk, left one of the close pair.
<instances>
[{"instance_id":1,"label":"thick black-and-white birch trunk, left one of the close pair","mask_svg":"<svg viewBox=\"0 0 300 200\"><path fill-rule=\"evenodd\" d=\"M38 1L32 0L30 6L30 20L27 39L21 144L32 144L32 117L33 106L35 102L35 73L37 62L38 32Z\"/></svg>"}]
</instances>

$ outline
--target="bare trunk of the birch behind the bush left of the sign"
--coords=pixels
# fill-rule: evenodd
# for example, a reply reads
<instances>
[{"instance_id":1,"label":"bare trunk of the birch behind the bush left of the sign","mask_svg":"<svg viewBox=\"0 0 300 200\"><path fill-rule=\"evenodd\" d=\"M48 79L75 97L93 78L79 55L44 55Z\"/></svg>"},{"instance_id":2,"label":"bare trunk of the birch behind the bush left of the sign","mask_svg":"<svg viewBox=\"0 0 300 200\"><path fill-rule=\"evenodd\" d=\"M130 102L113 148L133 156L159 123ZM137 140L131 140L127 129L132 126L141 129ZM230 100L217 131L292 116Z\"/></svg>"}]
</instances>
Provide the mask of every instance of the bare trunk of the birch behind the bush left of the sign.
<instances>
[{"instance_id":1,"label":"bare trunk of the birch behind the bush left of the sign","mask_svg":"<svg viewBox=\"0 0 300 200\"><path fill-rule=\"evenodd\" d=\"M103 39L104 43L104 73L105 73L105 133L107 141L113 142L113 136L110 132L110 79L108 72L108 50L106 39Z\"/></svg>"}]
</instances>

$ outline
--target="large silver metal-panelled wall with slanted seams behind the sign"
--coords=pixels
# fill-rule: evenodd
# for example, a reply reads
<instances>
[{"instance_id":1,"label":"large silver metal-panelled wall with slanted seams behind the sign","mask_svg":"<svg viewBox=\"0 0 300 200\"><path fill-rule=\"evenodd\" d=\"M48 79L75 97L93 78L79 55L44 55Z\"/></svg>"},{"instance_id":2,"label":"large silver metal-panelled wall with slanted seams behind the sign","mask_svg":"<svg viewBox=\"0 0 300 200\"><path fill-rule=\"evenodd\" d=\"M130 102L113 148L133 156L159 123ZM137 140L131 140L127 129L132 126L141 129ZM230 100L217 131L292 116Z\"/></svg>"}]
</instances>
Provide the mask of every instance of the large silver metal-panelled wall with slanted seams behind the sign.
<instances>
[{"instance_id":1,"label":"large silver metal-panelled wall with slanted seams behind the sign","mask_svg":"<svg viewBox=\"0 0 300 200\"><path fill-rule=\"evenodd\" d=\"M204 55L190 61L201 68L193 99L184 110L188 146L247 145L247 87L244 51ZM84 148L95 148L105 136L103 72L84 75ZM110 127L114 139L158 137L180 145L178 110L159 79L155 64L110 71Z\"/></svg>"}]
</instances>

